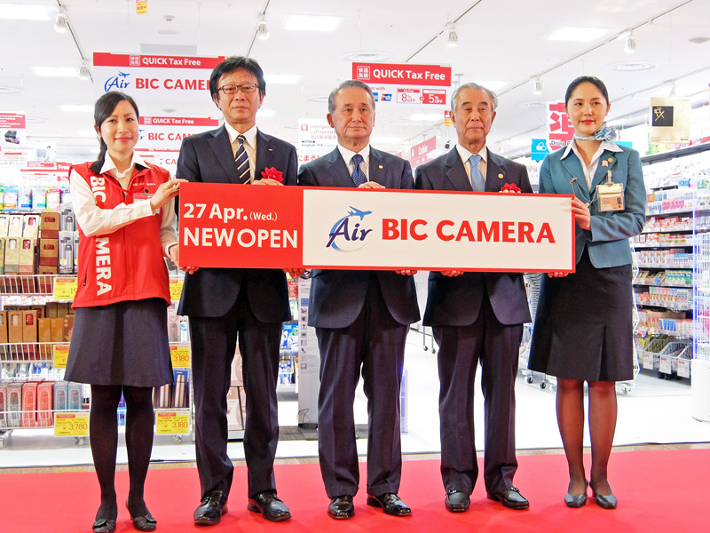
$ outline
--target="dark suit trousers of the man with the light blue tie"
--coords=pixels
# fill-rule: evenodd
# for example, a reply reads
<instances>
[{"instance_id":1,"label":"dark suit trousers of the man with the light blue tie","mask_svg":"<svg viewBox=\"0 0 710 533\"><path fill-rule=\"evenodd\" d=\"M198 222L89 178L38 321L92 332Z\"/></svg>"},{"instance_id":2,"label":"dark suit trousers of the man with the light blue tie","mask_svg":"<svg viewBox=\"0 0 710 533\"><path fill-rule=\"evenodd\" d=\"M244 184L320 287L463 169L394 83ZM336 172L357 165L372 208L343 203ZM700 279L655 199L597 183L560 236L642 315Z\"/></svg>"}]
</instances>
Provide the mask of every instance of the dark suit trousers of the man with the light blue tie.
<instances>
[{"instance_id":1,"label":"dark suit trousers of the man with the light blue tie","mask_svg":"<svg viewBox=\"0 0 710 533\"><path fill-rule=\"evenodd\" d=\"M473 396L478 363L485 412L484 481L488 492L512 487L517 470L515 383L523 325L501 324L484 294L476 322L434 326L438 349L441 477L446 490L473 491L478 475Z\"/></svg>"}]
</instances>

